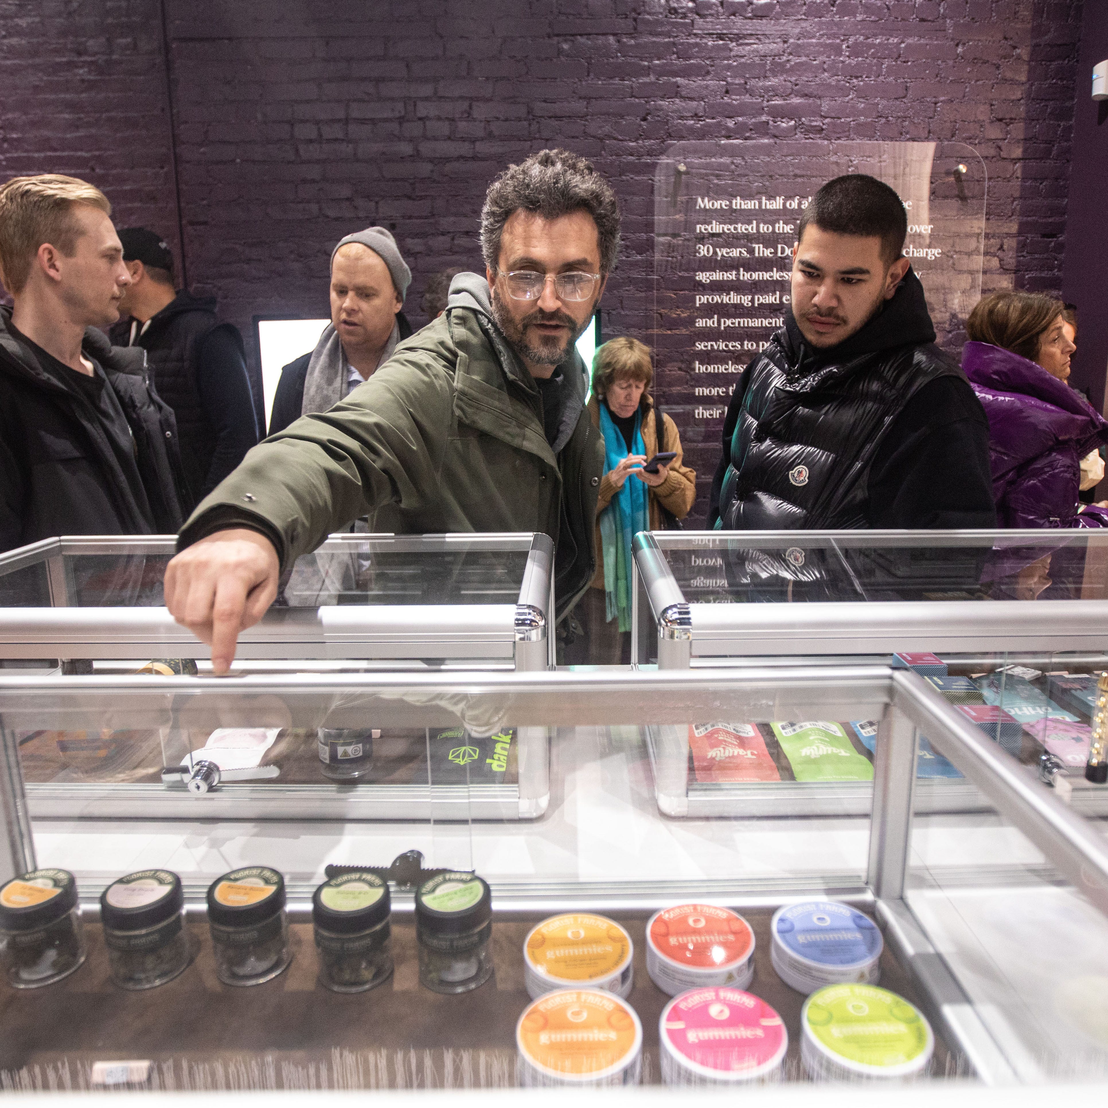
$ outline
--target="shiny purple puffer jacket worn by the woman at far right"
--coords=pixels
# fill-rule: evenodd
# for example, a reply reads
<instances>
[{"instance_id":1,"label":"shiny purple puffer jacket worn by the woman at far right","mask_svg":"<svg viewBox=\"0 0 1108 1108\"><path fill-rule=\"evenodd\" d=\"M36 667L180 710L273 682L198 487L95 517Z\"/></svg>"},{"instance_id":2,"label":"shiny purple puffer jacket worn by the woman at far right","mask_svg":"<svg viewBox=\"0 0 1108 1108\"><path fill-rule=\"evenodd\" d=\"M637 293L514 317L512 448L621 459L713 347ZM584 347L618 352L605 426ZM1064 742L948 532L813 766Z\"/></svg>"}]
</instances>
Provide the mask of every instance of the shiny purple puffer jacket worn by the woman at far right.
<instances>
[{"instance_id":1,"label":"shiny purple puffer jacket worn by the woman at far right","mask_svg":"<svg viewBox=\"0 0 1108 1108\"><path fill-rule=\"evenodd\" d=\"M988 417L998 521L1006 527L1104 526L1078 515L1080 460L1108 443L1108 421L1064 381L988 342L967 342L962 368Z\"/></svg>"}]
</instances>

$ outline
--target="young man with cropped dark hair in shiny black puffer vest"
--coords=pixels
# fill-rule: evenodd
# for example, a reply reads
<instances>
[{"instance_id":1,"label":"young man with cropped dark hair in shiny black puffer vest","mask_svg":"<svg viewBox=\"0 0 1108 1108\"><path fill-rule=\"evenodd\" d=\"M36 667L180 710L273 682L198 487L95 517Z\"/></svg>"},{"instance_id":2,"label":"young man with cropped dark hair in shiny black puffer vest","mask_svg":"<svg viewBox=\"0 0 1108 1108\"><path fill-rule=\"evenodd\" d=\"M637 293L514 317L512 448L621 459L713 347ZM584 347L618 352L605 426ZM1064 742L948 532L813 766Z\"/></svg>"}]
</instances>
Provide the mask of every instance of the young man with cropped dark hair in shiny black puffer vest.
<instances>
[{"instance_id":1,"label":"young man with cropped dark hair in shiny black puffer vest","mask_svg":"<svg viewBox=\"0 0 1108 1108\"><path fill-rule=\"evenodd\" d=\"M888 185L837 177L793 253L786 326L746 368L724 425L709 526L994 527L988 422L936 347Z\"/></svg>"}]
</instances>

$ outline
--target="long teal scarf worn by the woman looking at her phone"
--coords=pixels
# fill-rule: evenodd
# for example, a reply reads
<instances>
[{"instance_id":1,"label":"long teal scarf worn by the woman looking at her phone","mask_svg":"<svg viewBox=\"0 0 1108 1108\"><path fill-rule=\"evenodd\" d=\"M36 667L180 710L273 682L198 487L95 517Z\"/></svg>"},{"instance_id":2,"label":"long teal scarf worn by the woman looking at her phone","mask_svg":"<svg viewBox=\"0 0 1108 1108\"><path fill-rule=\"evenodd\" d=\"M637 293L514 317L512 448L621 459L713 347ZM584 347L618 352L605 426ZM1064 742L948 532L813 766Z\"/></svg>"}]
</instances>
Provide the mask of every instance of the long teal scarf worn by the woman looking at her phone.
<instances>
[{"instance_id":1,"label":"long teal scarf worn by the woman looking at her phone","mask_svg":"<svg viewBox=\"0 0 1108 1108\"><path fill-rule=\"evenodd\" d=\"M628 454L645 454L643 442L643 410L635 413L635 434L632 449L619 428L612 420L608 406L601 401L601 432L604 435L604 472L614 470ZM607 618L618 616L619 630L630 630L632 537L638 531L649 530L649 495L646 483L628 473L624 486L601 512L601 547L604 552L604 598Z\"/></svg>"}]
</instances>

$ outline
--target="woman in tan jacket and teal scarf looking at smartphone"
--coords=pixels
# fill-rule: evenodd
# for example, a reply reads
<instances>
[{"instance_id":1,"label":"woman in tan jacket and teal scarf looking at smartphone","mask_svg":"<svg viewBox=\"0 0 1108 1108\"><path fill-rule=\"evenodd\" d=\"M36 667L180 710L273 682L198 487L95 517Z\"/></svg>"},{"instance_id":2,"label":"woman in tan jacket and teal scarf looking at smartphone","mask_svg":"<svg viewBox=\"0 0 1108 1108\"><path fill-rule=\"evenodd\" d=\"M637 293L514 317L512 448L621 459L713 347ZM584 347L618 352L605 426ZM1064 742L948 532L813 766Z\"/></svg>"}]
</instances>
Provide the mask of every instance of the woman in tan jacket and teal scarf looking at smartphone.
<instances>
[{"instance_id":1,"label":"woman in tan jacket and teal scarf looking at smartphone","mask_svg":"<svg viewBox=\"0 0 1108 1108\"><path fill-rule=\"evenodd\" d=\"M666 414L659 434L653 380L650 348L637 339L612 339L593 358L588 411L604 435L605 454L596 502L597 570L573 613L582 634L566 644L567 665L630 661L632 538L661 530L663 510L684 520L696 500L696 472L681 463L677 425Z\"/></svg>"}]
</instances>

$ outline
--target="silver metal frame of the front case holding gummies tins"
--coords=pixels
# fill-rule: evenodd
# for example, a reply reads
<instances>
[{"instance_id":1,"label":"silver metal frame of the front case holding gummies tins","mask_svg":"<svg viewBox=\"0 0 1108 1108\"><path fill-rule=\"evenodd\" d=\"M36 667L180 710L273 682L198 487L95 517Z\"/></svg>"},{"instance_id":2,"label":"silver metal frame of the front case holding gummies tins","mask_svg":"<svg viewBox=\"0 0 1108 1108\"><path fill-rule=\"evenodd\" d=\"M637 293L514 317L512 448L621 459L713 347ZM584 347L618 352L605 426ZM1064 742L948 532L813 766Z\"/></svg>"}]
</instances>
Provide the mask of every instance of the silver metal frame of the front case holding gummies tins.
<instances>
[{"instance_id":1,"label":"silver metal frame of the front case holding gummies tins","mask_svg":"<svg viewBox=\"0 0 1108 1108\"><path fill-rule=\"evenodd\" d=\"M198 698L198 706L218 712L236 697L281 689L294 721L318 710L320 697L347 706L351 719L367 710L382 719L450 725L480 718L519 727L572 727L587 716L591 726L680 725L714 710L747 718L801 719L817 714L865 715L880 719L876 741L873 808L869 828L868 868L854 888L825 888L863 906L878 919L888 946L911 974L924 1007L947 1043L962 1051L978 1077L989 1084L1018 1078L1018 1059L1010 1043L998 1045L966 988L948 968L905 899L915 803L914 773L919 736L951 759L981 790L999 815L1020 832L1047 863L1095 907L1108 915L1108 842L1086 820L1024 772L1014 759L986 739L924 680L911 671L875 666L828 666L821 669L776 666L738 670L685 673L472 673L431 675L375 674L314 677L295 688L275 678L253 677L234 688L215 679L179 677L50 678L0 677L0 879L37 864L25 791L14 742L16 731L42 710L49 696L58 710L95 715L109 709L130 711L141 725L151 708L167 696ZM203 700L206 699L206 704ZM300 717L304 719L299 719ZM252 798L250 804L265 804ZM993 874L995 876L995 873ZM80 874L79 874L80 880ZM582 882L497 883L494 902L501 912L535 911L566 905L577 910L648 909L687 895L680 882L619 888ZM100 890L82 884L86 896ZM193 910L202 890L187 889ZM294 914L308 912L308 888L290 885ZM699 882L697 895L733 906L786 903L811 895L811 878L788 875L729 881L719 875ZM1007 1053L1006 1053L1007 1051Z\"/></svg>"}]
</instances>

